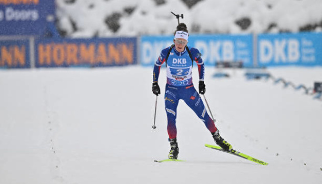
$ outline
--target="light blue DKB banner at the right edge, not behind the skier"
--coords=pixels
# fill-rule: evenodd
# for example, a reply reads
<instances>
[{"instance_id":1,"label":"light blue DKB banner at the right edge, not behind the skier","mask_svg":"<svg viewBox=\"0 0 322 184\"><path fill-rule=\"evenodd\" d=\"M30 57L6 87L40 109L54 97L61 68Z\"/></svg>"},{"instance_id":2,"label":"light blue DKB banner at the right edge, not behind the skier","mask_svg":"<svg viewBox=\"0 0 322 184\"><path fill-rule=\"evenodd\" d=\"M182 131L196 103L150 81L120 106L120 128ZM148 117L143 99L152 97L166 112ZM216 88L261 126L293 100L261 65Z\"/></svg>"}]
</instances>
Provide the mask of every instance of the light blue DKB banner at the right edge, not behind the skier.
<instances>
[{"instance_id":1,"label":"light blue DKB banner at the right edge, not behind the skier","mask_svg":"<svg viewBox=\"0 0 322 184\"><path fill-rule=\"evenodd\" d=\"M260 34L257 49L260 66L322 65L321 33Z\"/></svg>"}]
</instances>

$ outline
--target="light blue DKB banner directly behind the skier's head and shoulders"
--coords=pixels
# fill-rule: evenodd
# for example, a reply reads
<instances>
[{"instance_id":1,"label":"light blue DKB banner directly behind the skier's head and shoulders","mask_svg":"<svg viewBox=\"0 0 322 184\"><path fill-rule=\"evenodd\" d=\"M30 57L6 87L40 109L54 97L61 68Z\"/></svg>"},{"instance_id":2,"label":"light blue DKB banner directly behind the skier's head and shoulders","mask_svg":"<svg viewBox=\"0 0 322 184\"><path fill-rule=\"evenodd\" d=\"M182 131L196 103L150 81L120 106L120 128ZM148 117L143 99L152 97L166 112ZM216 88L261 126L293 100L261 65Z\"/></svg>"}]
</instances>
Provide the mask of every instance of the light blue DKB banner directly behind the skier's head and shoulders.
<instances>
[{"instance_id":1,"label":"light blue DKB banner directly behind the skier's head and shoulders","mask_svg":"<svg viewBox=\"0 0 322 184\"><path fill-rule=\"evenodd\" d=\"M142 36L141 65L153 65L162 49L171 44L173 36ZM252 35L191 35L188 46L200 51L205 65L242 61L244 66L251 66L253 62Z\"/></svg>"}]
</instances>

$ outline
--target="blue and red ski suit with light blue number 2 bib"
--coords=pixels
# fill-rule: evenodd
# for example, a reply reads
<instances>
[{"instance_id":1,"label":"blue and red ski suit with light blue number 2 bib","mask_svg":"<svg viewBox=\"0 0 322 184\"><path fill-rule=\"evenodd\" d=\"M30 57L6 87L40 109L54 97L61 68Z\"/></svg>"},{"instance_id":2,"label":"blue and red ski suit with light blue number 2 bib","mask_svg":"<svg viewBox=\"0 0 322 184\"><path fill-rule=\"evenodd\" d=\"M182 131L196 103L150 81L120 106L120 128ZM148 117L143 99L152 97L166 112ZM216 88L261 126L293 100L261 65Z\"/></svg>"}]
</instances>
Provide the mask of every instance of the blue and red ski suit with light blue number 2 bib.
<instances>
[{"instance_id":1,"label":"blue and red ski suit with light blue number 2 bib","mask_svg":"<svg viewBox=\"0 0 322 184\"><path fill-rule=\"evenodd\" d=\"M167 66L167 85L165 92L165 105L168 118L169 139L177 136L176 117L179 100L183 100L197 114L198 118L205 124L210 132L217 130L214 121L210 118L197 90L192 83L193 61L197 63L199 80L204 79L204 64L200 52L195 48L187 48L183 52L178 52L175 47L162 50L153 68L153 82L157 82L160 67L166 62ZM190 57L191 56L191 57Z\"/></svg>"}]
</instances>

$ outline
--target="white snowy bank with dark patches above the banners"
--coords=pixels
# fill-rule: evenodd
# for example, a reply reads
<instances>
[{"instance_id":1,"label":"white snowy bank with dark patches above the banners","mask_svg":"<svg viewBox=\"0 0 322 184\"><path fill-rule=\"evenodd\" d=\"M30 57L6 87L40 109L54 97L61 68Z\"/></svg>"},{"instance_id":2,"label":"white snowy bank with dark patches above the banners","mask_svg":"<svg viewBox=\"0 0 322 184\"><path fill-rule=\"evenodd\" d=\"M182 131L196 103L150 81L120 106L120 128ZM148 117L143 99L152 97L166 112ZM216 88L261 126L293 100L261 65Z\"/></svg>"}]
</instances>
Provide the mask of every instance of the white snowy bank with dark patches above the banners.
<instances>
[{"instance_id":1,"label":"white snowy bank with dark patches above the banners","mask_svg":"<svg viewBox=\"0 0 322 184\"><path fill-rule=\"evenodd\" d=\"M191 9L181 0L77 0L66 3L56 0L58 27L68 37L109 37L139 35L171 35L177 19L170 12L183 14L191 34L196 33L277 33L298 32L307 25L320 25L320 0L203 0ZM125 9L133 9L126 13ZM121 17L120 28L114 33L105 20L114 13ZM243 30L237 20L248 18L250 26ZM77 30L73 30L74 22ZM269 27L272 28L269 29ZM322 27L317 26L316 32Z\"/></svg>"}]
</instances>

